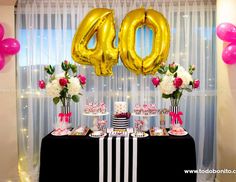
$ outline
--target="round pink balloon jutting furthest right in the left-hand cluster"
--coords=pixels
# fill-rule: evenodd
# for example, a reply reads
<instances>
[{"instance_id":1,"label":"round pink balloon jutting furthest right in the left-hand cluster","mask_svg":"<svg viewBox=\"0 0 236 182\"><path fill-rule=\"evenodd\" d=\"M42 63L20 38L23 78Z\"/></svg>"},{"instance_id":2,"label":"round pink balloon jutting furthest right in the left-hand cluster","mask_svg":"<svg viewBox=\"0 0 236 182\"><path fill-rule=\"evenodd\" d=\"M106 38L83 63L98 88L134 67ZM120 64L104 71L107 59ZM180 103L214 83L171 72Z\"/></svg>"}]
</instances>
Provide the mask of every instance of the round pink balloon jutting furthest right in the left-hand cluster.
<instances>
[{"instance_id":1,"label":"round pink balloon jutting furthest right in the left-hand cluster","mask_svg":"<svg viewBox=\"0 0 236 182\"><path fill-rule=\"evenodd\" d=\"M13 38L7 38L0 42L0 52L6 55L14 55L20 50L20 43Z\"/></svg>"}]
</instances>

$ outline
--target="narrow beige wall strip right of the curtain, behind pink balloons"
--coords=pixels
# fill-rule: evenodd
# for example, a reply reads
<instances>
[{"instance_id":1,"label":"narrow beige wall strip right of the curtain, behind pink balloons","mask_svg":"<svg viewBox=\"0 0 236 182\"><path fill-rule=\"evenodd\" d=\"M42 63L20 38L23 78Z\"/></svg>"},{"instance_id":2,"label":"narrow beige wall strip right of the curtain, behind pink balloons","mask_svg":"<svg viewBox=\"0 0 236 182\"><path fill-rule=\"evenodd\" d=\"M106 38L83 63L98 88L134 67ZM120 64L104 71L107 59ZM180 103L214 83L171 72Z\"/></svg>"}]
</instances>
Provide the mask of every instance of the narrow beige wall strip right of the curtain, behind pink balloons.
<instances>
[{"instance_id":1,"label":"narrow beige wall strip right of the curtain, behind pink balloons","mask_svg":"<svg viewBox=\"0 0 236 182\"><path fill-rule=\"evenodd\" d=\"M217 25L236 25L236 1L217 0ZM221 59L223 42L217 38L217 169L236 169L236 65ZM236 175L218 174L218 182L236 181Z\"/></svg>"}]
</instances>

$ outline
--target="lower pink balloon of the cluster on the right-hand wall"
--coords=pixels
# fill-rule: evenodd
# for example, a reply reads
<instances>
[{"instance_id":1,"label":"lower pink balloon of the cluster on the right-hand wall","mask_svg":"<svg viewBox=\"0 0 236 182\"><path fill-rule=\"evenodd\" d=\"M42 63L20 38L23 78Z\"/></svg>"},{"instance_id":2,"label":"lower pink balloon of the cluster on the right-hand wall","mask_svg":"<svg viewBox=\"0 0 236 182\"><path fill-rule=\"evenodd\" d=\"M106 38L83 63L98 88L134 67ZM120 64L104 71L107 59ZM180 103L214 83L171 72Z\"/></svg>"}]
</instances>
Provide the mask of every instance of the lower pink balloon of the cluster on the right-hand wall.
<instances>
[{"instance_id":1,"label":"lower pink balloon of the cluster on the right-hand wall","mask_svg":"<svg viewBox=\"0 0 236 182\"><path fill-rule=\"evenodd\" d=\"M224 48L222 52L222 59L226 64L236 63L236 43L231 43Z\"/></svg>"}]
</instances>

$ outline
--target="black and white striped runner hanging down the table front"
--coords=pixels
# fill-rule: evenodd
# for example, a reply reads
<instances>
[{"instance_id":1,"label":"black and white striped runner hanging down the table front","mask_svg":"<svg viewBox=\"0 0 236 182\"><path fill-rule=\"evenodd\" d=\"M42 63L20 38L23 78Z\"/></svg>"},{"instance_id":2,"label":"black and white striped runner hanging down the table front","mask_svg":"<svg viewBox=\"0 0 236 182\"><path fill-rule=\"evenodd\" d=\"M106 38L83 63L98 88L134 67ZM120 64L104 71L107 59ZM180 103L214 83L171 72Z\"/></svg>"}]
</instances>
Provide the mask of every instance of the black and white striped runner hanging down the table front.
<instances>
[{"instance_id":1,"label":"black and white striped runner hanging down the table front","mask_svg":"<svg viewBox=\"0 0 236 182\"><path fill-rule=\"evenodd\" d=\"M137 138L99 139L99 182L137 182Z\"/></svg>"}]
</instances>

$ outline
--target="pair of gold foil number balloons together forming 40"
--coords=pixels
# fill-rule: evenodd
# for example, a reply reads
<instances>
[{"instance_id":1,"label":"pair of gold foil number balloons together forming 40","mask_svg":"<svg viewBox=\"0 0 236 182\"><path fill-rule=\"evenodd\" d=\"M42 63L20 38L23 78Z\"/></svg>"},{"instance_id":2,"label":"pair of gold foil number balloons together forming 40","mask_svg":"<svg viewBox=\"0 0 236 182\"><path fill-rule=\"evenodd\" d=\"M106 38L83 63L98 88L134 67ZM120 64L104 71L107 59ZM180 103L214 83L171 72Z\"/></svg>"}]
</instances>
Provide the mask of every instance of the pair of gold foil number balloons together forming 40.
<instances>
[{"instance_id":1,"label":"pair of gold foil number balloons together forming 40","mask_svg":"<svg viewBox=\"0 0 236 182\"><path fill-rule=\"evenodd\" d=\"M153 30L152 52L140 58L135 51L136 30L147 25ZM97 32L94 49L87 44ZM72 43L72 58L86 65L94 65L98 76L111 75L112 66L118 62L118 50L114 47L115 24L109 9L97 8L88 13L80 24ZM129 12L122 21L119 33L119 53L125 67L136 74L154 74L168 57L170 29L164 16L155 10L144 8Z\"/></svg>"}]
</instances>

